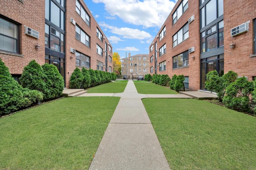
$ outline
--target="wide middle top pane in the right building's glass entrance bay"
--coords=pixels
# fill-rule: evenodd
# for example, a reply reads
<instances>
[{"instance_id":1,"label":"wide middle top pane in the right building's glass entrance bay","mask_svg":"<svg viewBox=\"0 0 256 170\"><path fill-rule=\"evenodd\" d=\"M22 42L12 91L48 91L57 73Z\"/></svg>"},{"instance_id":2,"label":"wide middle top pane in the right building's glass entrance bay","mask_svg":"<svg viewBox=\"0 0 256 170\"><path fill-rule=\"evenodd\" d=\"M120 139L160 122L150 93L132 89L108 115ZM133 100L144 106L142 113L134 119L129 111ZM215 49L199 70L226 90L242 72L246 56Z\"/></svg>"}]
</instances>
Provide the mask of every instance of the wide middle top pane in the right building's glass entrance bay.
<instances>
[{"instance_id":1,"label":"wide middle top pane in the right building's glass entrance bay","mask_svg":"<svg viewBox=\"0 0 256 170\"><path fill-rule=\"evenodd\" d=\"M210 0L210 2L206 4L206 25L214 21L216 18L217 18L216 0Z\"/></svg>"}]
</instances>

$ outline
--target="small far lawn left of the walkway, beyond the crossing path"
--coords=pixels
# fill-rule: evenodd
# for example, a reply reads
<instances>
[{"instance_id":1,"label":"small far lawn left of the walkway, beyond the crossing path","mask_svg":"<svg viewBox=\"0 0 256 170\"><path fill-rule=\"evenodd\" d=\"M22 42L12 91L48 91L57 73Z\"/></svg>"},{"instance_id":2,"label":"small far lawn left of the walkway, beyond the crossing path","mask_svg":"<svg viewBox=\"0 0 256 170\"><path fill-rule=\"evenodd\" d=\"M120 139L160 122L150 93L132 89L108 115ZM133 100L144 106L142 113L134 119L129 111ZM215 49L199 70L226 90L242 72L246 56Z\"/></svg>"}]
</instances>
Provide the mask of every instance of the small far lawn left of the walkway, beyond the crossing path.
<instances>
[{"instance_id":1,"label":"small far lawn left of the walkway, beyond the crossing path","mask_svg":"<svg viewBox=\"0 0 256 170\"><path fill-rule=\"evenodd\" d=\"M109 82L92 88L88 88L87 93L122 93L127 85L127 82Z\"/></svg>"}]
</instances>

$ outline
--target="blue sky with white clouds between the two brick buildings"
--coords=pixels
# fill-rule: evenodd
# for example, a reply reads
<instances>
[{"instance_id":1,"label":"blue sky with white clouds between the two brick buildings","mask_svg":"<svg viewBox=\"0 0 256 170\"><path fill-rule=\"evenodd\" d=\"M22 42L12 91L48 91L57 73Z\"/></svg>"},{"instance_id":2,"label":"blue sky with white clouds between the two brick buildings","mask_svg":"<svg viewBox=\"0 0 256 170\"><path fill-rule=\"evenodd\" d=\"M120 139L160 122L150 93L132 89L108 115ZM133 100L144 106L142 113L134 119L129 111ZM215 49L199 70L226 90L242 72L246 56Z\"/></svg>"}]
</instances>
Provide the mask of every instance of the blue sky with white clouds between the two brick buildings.
<instances>
[{"instance_id":1,"label":"blue sky with white clouds between the two brick buildings","mask_svg":"<svg viewBox=\"0 0 256 170\"><path fill-rule=\"evenodd\" d=\"M120 58L148 54L177 0L85 0Z\"/></svg>"}]
</instances>

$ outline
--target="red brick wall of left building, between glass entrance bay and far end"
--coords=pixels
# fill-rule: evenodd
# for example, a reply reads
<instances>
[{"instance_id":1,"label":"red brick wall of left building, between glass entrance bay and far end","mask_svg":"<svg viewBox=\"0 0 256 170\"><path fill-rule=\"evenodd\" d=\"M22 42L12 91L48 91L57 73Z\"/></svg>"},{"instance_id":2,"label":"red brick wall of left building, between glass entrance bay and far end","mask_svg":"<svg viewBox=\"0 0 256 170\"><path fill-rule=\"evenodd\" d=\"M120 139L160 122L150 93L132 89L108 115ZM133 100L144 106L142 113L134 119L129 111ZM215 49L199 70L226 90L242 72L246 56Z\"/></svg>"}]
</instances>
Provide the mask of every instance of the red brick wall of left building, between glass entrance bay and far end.
<instances>
[{"instance_id":1,"label":"red brick wall of left building, between glass entrance bay and far end","mask_svg":"<svg viewBox=\"0 0 256 170\"><path fill-rule=\"evenodd\" d=\"M83 53L90 57L90 66L93 70L97 69L97 60L105 63L105 53L103 53L103 57L98 55L96 53L96 45L98 44L103 50L105 49L105 41L109 43L108 39L103 39L103 42L96 36L97 27L100 29L98 23L90 13L90 10L86 6L83 0L80 1L80 4L84 7L86 12L91 17L90 20L90 27L85 23L85 21L79 16L79 14L76 12L76 0L67 0L66 1L66 86L68 87L70 82L70 76L74 69L76 68L76 55L73 53L70 53L70 47L76 49L76 51L79 51L80 53ZM80 28L82 28L87 35L90 36L90 47L87 47L80 41L76 39L76 26L70 23L70 18L73 18L76 21L76 24L79 25ZM100 29L100 32L104 35L104 32ZM110 44L112 47L112 45ZM113 47L112 47L113 50ZM112 57L112 53L108 50L108 55ZM70 59L70 57L73 57ZM112 63L109 63L108 65L112 66ZM82 67L78 67L82 69ZM103 68L105 70L105 66Z\"/></svg>"}]
</instances>

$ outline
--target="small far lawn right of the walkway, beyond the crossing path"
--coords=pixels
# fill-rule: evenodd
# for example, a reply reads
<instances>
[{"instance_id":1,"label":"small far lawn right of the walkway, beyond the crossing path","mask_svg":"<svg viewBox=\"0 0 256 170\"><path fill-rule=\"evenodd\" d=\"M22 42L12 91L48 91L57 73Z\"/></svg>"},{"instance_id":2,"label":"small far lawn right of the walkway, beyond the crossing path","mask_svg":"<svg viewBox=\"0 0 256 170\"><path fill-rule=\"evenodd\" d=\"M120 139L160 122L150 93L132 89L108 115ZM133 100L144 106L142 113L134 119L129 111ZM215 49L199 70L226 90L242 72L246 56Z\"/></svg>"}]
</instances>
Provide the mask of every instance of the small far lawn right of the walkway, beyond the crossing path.
<instances>
[{"instance_id":1,"label":"small far lawn right of the walkway, beyond the crossing path","mask_svg":"<svg viewBox=\"0 0 256 170\"><path fill-rule=\"evenodd\" d=\"M159 86L146 81L134 81L134 85L140 94L178 94L166 86Z\"/></svg>"}]
</instances>

